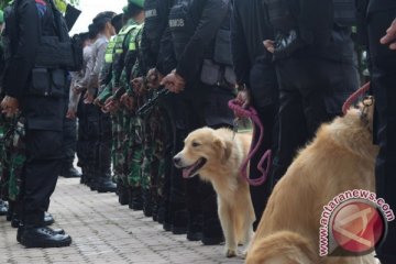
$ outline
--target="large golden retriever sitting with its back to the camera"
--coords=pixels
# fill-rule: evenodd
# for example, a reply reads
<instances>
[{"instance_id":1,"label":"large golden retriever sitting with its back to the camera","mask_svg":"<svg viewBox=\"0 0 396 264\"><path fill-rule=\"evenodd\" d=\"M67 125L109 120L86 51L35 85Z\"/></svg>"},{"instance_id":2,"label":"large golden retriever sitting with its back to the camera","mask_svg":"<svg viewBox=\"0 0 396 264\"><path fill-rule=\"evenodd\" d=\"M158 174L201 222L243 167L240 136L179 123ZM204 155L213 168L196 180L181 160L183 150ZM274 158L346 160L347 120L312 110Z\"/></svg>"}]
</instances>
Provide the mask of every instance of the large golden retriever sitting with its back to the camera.
<instances>
[{"instance_id":1,"label":"large golden retriever sitting with its back to the camera","mask_svg":"<svg viewBox=\"0 0 396 264\"><path fill-rule=\"evenodd\" d=\"M366 108L367 109L367 108ZM246 264L374 264L364 256L319 256L323 206L339 194L375 189L373 107L352 108L322 124L276 184L246 255Z\"/></svg>"}]
</instances>

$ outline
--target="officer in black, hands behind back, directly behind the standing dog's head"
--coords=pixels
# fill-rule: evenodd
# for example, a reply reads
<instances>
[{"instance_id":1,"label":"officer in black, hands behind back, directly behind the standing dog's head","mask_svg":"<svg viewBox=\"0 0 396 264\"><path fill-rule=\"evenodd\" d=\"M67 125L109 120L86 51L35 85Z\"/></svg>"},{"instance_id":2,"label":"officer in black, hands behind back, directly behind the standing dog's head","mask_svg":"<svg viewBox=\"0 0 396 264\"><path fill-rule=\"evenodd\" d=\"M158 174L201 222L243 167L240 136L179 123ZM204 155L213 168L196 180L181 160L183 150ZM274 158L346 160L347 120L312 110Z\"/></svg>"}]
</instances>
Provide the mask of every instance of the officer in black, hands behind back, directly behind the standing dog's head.
<instances>
[{"instance_id":1,"label":"officer in black, hands behind back, directly behind the standing dog's head","mask_svg":"<svg viewBox=\"0 0 396 264\"><path fill-rule=\"evenodd\" d=\"M228 101L234 97L235 76L230 51L230 10L231 1L227 0L182 1L170 10L177 66L162 84L172 92L183 91L179 97L183 105L176 111L176 152L197 128L232 127ZM220 243L223 238L212 186L195 178L187 182L186 195L188 231L194 233L188 237L196 240L201 226L204 244Z\"/></svg>"}]
</instances>

